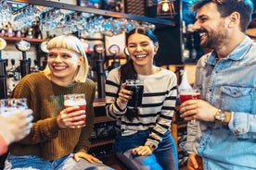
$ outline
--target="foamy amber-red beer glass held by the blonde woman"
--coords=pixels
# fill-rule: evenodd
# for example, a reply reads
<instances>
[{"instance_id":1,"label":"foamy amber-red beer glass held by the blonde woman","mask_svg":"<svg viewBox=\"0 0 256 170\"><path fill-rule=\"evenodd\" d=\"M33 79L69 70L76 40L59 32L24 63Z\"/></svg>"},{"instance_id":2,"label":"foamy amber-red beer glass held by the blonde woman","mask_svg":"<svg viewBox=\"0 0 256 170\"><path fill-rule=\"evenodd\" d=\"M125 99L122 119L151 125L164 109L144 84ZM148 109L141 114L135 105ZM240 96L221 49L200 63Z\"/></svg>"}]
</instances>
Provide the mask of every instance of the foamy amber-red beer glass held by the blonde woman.
<instances>
[{"instance_id":1,"label":"foamy amber-red beer glass held by the blonde woman","mask_svg":"<svg viewBox=\"0 0 256 170\"><path fill-rule=\"evenodd\" d=\"M64 95L64 107L72 107L72 106L79 106L79 108L75 111L79 110L85 110L86 109L86 101L85 101L85 95L82 93L73 93L73 94L66 94ZM74 111L72 111L74 112ZM80 116L80 115L77 115ZM83 121L84 124L81 126L75 126L75 127L70 127L70 128L82 128L85 126L85 121L86 121L86 113L85 116L82 119L75 120L73 122L79 122Z\"/></svg>"}]
</instances>

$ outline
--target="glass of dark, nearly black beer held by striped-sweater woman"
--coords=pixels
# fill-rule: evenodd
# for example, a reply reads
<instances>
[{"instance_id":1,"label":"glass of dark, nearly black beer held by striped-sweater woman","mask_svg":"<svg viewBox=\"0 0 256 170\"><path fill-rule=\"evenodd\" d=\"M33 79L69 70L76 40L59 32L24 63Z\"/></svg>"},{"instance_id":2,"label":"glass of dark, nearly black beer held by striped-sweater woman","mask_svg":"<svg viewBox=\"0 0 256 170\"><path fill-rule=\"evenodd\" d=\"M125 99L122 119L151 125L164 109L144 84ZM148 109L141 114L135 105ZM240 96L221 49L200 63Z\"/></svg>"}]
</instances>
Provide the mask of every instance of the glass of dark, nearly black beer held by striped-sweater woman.
<instances>
[{"instance_id":1,"label":"glass of dark, nearly black beer held by striped-sweater woman","mask_svg":"<svg viewBox=\"0 0 256 170\"><path fill-rule=\"evenodd\" d=\"M142 80L126 79L126 90L133 91L132 98L128 101L127 107L138 109L141 107L144 84Z\"/></svg>"}]
</instances>

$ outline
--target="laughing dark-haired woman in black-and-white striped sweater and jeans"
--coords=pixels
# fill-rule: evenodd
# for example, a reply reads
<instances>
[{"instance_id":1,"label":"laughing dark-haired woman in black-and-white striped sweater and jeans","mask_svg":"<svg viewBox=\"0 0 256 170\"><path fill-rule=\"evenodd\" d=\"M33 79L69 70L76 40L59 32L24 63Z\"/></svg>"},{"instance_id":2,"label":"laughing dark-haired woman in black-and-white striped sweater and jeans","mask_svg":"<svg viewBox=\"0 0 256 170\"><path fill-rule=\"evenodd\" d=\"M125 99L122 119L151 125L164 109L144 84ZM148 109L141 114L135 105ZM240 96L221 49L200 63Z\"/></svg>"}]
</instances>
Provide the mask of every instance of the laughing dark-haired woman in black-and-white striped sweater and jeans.
<instances>
[{"instance_id":1,"label":"laughing dark-haired woman in black-and-white striped sweater and jeans","mask_svg":"<svg viewBox=\"0 0 256 170\"><path fill-rule=\"evenodd\" d=\"M153 65L159 42L151 30L137 28L126 36L131 56L122 67L109 72L106 109L116 120L114 151L129 169L178 169L176 146L169 131L176 103L176 77L170 70ZM142 106L127 108L132 91L126 79L144 81ZM133 100L133 99L131 99Z\"/></svg>"}]
</instances>

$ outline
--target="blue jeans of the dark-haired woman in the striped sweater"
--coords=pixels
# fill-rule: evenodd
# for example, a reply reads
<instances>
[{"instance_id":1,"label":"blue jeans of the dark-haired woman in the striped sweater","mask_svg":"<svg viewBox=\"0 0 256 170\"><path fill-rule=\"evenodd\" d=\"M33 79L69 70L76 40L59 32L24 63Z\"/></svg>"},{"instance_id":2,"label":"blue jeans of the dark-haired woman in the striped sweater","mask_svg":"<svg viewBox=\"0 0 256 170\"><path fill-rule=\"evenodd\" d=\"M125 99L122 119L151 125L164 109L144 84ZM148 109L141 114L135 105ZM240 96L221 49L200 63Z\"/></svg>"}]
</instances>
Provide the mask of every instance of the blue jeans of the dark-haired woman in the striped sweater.
<instances>
[{"instance_id":1,"label":"blue jeans of the dark-haired woman in the striped sweater","mask_svg":"<svg viewBox=\"0 0 256 170\"><path fill-rule=\"evenodd\" d=\"M178 170L178 156L176 146L170 132L163 136L159 147L149 156L132 154L132 150L143 146L149 131L138 131L130 136L116 136L114 150L117 157L129 169L133 170Z\"/></svg>"}]
</instances>

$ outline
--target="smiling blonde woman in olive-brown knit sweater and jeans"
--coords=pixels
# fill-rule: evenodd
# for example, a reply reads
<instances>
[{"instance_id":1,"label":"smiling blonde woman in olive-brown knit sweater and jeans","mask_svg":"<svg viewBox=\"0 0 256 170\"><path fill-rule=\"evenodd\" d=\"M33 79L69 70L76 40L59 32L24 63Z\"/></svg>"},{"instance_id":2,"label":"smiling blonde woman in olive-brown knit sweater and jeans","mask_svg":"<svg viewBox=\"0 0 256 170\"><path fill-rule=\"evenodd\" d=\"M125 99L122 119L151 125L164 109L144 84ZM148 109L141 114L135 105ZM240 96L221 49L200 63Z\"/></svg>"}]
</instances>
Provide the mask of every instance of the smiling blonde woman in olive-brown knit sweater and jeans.
<instances>
[{"instance_id":1,"label":"smiling blonde woman in olive-brown knit sweater and jeans","mask_svg":"<svg viewBox=\"0 0 256 170\"><path fill-rule=\"evenodd\" d=\"M88 61L82 43L73 35L60 35L48 42L47 49L45 70L27 75L13 91L12 97L28 99L34 119L31 133L12 145L5 169L111 169L87 153L96 85L87 79ZM63 95L69 93L84 93L86 109L65 109ZM73 122L73 116L84 112L86 126L70 128L84 124Z\"/></svg>"}]
</instances>

